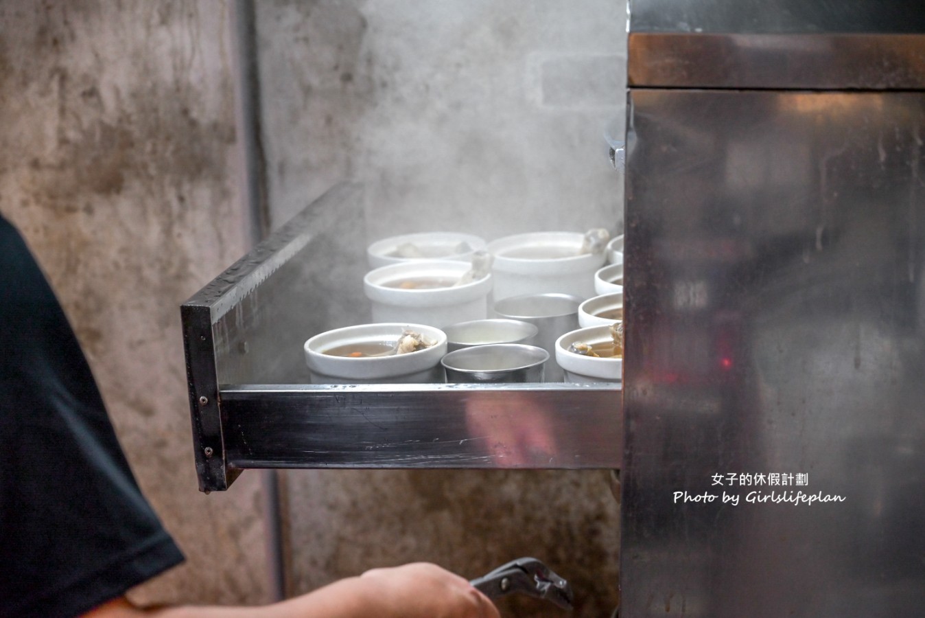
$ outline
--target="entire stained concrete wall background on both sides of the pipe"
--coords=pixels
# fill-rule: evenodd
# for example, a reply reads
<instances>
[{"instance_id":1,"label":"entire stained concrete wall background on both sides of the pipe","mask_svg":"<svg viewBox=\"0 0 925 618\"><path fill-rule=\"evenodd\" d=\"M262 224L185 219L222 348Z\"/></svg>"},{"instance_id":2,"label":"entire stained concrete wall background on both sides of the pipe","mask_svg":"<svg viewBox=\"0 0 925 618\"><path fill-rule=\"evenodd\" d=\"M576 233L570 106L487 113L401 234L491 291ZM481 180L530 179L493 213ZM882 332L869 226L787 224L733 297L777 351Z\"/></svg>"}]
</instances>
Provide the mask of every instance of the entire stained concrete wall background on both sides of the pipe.
<instances>
[{"instance_id":1,"label":"entire stained concrete wall background on both sides of the pipe","mask_svg":"<svg viewBox=\"0 0 925 618\"><path fill-rule=\"evenodd\" d=\"M133 591L142 602L272 596L260 475L196 489L179 330L179 303L249 246L230 10L0 6L0 211L47 272L142 489L188 557ZM340 179L369 189L367 240L622 226L601 137L623 115L621 0L259 2L257 13L275 227ZM573 615L616 603L619 513L603 472L283 480L290 592L409 560L475 576L534 554L573 580ZM505 609L562 615L529 599Z\"/></svg>"}]
</instances>

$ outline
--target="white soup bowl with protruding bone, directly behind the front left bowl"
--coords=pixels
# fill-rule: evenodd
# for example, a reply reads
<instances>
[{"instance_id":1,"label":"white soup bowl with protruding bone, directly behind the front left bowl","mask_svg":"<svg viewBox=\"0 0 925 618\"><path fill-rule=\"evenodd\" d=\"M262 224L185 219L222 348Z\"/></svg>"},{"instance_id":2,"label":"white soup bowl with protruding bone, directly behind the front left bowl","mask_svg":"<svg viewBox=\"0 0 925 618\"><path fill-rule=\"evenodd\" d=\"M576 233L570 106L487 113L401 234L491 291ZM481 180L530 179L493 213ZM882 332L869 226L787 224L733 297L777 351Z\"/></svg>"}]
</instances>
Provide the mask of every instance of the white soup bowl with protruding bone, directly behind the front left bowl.
<instances>
[{"instance_id":1,"label":"white soup bowl with protruding bone, directly behind the front left bowl","mask_svg":"<svg viewBox=\"0 0 925 618\"><path fill-rule=\"evenodd\" d=\"M467 273L469 262L433 260L382 266L366 273L366 298L372 303L374 322L415 322L443 328L488 316L492 276L453 286ZM414 285L442 283L434 288Z\"/></svg>"}]
</instances>

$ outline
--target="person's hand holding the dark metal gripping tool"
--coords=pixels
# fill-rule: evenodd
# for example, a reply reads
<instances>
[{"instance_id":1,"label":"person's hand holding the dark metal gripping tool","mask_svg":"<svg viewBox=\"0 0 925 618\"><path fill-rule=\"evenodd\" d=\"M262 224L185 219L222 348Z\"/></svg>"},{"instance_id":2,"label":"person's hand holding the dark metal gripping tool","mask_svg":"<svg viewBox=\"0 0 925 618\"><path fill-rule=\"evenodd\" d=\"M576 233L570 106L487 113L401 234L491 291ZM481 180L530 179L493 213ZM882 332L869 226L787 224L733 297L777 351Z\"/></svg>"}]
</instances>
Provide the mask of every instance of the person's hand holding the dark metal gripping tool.
<instances>
[{"instance_id":1,"label":"person's hand holding the dark metal gripping tool","mask_svg":"<svg viewBox=\"0 0 925 618\"><path fill-rule=\"evenodd\" d=\"M459 575L428 562L373 569L360 576L382 600L377 615L404 618L500 618L498 608Z\"/></svg>"}]
</instances>

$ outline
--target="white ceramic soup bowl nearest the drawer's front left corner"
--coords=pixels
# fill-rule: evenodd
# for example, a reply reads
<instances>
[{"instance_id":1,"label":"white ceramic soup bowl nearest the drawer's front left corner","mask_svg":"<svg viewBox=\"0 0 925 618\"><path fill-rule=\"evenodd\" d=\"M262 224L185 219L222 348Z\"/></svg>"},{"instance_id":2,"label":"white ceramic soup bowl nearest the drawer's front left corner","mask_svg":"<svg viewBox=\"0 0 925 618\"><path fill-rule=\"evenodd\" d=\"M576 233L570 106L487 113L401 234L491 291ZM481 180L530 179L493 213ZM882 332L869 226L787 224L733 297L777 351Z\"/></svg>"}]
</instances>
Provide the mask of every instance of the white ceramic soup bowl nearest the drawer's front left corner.
<instances>
[{"instance_id":1,"label":"white ceramic soup bowl nearest the drawer's front left corner","mask_svg":"<svg viewBox=\"0 0 925 618\"><path fill-rule=\"evenodd\" d=\"M388 356L351 357L332 355L332 351L367 345L386 349L396 343L405 330L420 333L433 345L417 352ZM361 324L335 328L305 341L305 362L314 384L366 384L402 382L429 384L443 381L440 359L447 353L447 336L438 328L406 322Z\"/></svg>"}]
</instances>

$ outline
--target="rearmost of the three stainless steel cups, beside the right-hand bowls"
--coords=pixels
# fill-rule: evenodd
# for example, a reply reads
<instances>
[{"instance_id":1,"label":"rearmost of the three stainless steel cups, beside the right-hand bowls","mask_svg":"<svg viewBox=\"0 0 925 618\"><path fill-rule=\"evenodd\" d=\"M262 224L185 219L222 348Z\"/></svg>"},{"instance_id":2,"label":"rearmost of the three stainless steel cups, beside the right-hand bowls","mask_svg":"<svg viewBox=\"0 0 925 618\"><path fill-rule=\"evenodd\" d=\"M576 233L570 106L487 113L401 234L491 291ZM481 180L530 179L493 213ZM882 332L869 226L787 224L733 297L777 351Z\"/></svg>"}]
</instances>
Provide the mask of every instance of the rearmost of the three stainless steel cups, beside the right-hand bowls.
<instances>
[{"instance_id":1,"label":"rearmost of the three stainless steel cups, beside the right-hand bowls","mask_svg":"<svg viewBox=\"0 0 925 618\"><path fill-rule=\"evenodd\" d=\"M536 337L527 341L549 352L545 376L547 382L561 382L564 374L556 363L556 340L578 328L578 305L585 299L573 294L525 294L510 296L495 303L498 317L520 320L538 328Z\"/></svg>"}]
</instances>

